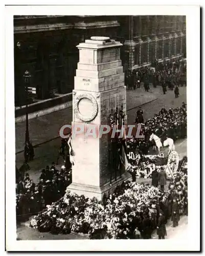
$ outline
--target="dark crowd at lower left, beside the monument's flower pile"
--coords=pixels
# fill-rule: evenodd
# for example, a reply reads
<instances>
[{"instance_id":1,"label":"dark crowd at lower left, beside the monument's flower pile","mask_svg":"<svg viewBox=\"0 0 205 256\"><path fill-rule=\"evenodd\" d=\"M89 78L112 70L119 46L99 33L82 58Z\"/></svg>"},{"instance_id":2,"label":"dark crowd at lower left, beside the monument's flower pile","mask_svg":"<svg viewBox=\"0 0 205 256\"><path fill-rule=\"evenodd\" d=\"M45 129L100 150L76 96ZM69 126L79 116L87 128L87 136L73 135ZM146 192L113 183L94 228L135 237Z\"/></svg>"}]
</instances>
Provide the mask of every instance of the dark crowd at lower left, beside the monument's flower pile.
<instances>
[{"instance_id":1,"label":"dark crowd at lower left, beside the monument's flower pile","mask_svg":"<svg viewBox=\"0 0 205 256\"><path fill-rule=\"evenodd\" d=\"M41 170L39 182L34 183L29 174L16 168L16 217L23 221L41 211L46 205L59 200L66 187L72 182L71 170L65 166L58 170L53 162Z\"/></svg>"}]
</instances>

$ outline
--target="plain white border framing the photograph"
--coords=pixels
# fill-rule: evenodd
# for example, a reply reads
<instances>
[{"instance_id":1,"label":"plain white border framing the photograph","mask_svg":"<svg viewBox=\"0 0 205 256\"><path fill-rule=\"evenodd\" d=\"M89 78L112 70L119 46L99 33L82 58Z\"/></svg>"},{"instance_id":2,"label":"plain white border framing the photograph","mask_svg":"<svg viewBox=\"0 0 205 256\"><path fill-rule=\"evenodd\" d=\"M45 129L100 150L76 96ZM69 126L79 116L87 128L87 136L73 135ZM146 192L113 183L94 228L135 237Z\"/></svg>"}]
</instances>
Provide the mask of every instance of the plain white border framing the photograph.
<instances>
[{"instance_id":1,"label":"plain white border framing the photograph","mask_svg":"<svg viewBox=\"0 0 205 256\"><path fill-rule=\"evenodd\" d=\"M6 6L6 249L8 251L198 251L200 249L199 6ZM186 15L189 216L182 239L16 241L13 15ZM13 99L13 100L12 100Z\"/></svg>"}]
</instances>

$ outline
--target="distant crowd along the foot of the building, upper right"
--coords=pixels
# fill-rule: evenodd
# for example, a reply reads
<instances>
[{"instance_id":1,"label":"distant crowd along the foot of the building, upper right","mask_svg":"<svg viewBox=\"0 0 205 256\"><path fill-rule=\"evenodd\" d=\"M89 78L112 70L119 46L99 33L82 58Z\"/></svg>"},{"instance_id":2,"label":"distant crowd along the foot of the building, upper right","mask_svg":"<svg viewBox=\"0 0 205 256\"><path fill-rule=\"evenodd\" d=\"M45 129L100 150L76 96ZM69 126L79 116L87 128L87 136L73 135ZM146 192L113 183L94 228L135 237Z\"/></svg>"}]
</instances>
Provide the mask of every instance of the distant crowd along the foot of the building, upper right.
<instances>
[{"instance_id":1,"label":"distant crowd along the foot of the building, upper right","mask_svg":"<svg viewBox=\"0 0 205 256\"><path fill-rule=\"evenodd\" d=\"M151 66L133 70L130 77L127 77L126 83L129 90L140 88L143 83L146 92L149 92L150 84L153 84L154 88L161 86L164 94L166 94L167 88L170 90L175 88L175 97L178 97L178 86L186 86L186 74L186 60L166 64L155 61L151 63Z\"/></svg>"}]
</instances>

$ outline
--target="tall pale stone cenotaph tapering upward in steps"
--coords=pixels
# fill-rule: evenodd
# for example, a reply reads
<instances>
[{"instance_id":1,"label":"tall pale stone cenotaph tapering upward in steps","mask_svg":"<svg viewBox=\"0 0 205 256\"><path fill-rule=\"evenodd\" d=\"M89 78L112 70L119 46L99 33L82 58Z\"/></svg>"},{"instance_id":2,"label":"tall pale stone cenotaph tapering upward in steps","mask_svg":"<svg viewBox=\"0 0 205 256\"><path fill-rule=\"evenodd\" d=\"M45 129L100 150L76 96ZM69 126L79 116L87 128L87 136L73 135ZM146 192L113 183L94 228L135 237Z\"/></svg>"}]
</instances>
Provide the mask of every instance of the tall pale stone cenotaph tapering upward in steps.
<instances>
[{"instance_id":1,"label":"tall pale stone cenotaph tapering upward in steps","mask_svg":"<svg viewBox=\"0 0 205 256\"><path fill-rule=\"evenodd\" d=\"M115 110L116 106L120 109L122 105L126 124L121 46L109 37L97 36L77 46L79 62L73 90L73 127L92 124L100 128L102 124L109 124L111 109ZM86 136L86 131L72 135L75 164L69 189L78 195L102 200L105 193L112 193L130 175L124 169L117 179L110 180L113 170L110 168L109 136Z\"/></svg>"}]
</instances>

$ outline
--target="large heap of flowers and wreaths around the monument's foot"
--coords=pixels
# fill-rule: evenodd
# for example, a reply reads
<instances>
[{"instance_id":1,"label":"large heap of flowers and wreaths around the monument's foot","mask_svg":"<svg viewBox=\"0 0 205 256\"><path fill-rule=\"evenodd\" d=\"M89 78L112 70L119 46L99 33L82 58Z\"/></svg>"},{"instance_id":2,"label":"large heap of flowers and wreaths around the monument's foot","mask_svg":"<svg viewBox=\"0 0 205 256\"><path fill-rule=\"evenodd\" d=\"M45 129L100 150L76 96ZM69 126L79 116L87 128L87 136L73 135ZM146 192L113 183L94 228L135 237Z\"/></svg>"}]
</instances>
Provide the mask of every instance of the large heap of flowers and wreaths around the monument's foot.
<instances>
[{"instance_id":1,"label":"large heap of flowers and wreaths around the monument's foot","mask_svg":"<svg viewBox=\"0 0 205 256\"><path fill-rule=\"evenodd\" d=\"M30 226L41 232L66 234L73 231L90 237L99 232L102 235L104 231L104 238L127 239L129 214L140 214L143 206L153 204L162 195L156 187L135 182L123 182L117 190L104 203L67 190L64 197L35 216Z\"/></svg>"}]
</instances>

